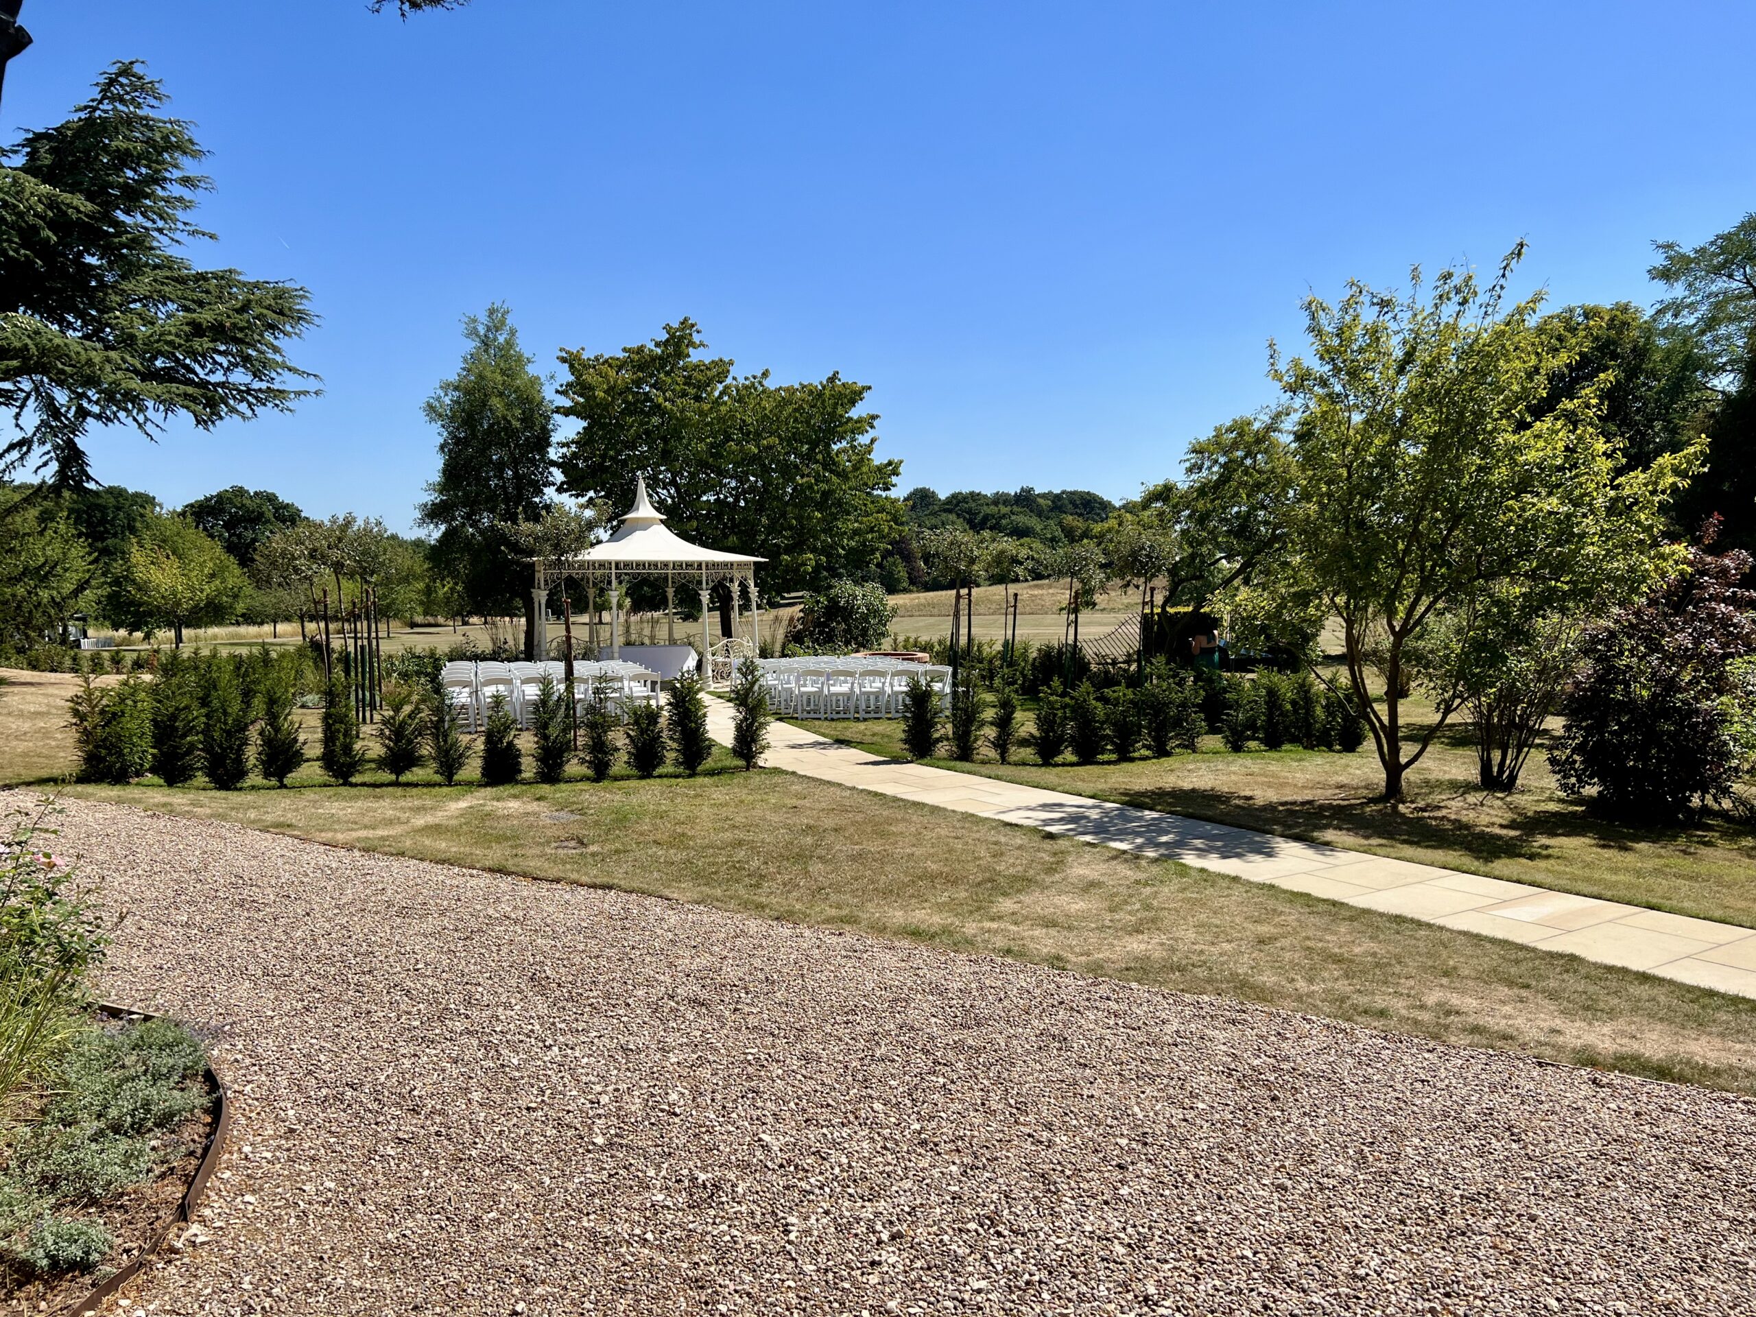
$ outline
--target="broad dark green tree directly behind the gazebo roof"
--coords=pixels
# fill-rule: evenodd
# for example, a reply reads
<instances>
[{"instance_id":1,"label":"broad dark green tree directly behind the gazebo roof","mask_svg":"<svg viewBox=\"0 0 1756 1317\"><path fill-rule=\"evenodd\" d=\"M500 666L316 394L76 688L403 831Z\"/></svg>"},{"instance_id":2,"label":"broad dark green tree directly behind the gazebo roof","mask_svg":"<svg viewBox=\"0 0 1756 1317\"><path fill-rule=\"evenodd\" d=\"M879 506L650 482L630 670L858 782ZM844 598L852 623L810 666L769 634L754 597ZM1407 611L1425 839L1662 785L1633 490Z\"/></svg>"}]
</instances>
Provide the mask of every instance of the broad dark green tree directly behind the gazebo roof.
<instances>
[{"instance_id":1,"label":"broad dark green tree directly behind the gazebo roof","mask_svg":"<svg viewBox=\"0 0 1756 1317\"><path fill-rule=\"evenodd\" d=\"M887 497L903 469L874 455L866 385L831 374L774 385L734 376L690 320L620 353L564 351L562 490L627 507L644 474L669 527L767 558L769 590L866 578L903 529Z\"/></svg>"}]
</instances>

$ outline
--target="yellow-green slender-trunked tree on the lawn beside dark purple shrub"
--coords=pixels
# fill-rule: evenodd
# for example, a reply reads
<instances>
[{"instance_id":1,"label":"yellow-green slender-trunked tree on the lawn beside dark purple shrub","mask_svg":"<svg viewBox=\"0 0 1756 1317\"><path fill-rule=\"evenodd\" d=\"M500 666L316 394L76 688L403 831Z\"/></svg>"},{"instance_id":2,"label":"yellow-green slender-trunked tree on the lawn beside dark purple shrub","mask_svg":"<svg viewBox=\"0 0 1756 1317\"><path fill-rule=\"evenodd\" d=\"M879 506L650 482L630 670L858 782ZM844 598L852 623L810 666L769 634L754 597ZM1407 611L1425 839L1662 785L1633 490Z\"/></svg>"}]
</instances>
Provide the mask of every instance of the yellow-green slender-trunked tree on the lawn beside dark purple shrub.
<instances>
[{"instance_id":1,"label":"yellow-green slender-trunked tree on the lawn beside dark purple shrub","mask_svg":"<svg viewBox=\"0 0 1756 1317\"><path fill-rule=\"evenodd\" d=\"M1482 288L1443 270L1407 295L1350 283L1305 304L1310 355L1273 360L1296 407L1294 497L1264 592L1303 616L1303 641L1340 618L1345 683L1384 766L1384 797L1463 701L1445 653L1470 646L1480 604L1508 590L1651 578L1663 499L1696 450L1617 476L1598 388L1540 413L1570 356L1535 328L1538 299L1503 307L1522 244ZM1403 720L1408 681L1436 711Z\"/></svg>"}]
</instances>

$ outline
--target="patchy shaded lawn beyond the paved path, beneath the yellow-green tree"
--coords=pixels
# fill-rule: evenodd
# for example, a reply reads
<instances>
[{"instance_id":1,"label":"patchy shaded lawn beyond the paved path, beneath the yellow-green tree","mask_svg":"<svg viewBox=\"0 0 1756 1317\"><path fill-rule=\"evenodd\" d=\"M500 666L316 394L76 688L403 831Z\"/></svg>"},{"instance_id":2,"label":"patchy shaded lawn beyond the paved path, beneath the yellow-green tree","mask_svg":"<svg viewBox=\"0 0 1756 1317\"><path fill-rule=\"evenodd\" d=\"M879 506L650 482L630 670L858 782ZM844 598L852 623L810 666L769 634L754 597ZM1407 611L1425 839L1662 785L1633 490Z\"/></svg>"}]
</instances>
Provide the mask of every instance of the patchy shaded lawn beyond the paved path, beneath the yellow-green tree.
<instances>
[{"instance_id":1,"label":"patchy shaded lawn beyond the paved path, beneath the yellow-green tree","mask_svg":"<svg viewBox=\"0 0 1756 1317\"><path fill-rule=\"evenodd\" d=\"M1429 711L1415 704L1415 716ZM1029 716L1024 722L1029 725ZM876 753L903 755L901 723L894 720L801 725ZM1029 750L1017 757L1026 762L1001 766L990 753L975 764L932 762L1301 841L1756 925L1756 834L1747 827L1726 820L1656 831L1619 827L1563 795L1540 752L1521 790L1484 792L1463 729L1442 732L1410 773L1410 801L1400 808L1373 799L1384 778L1370 743L1352 755L1298 748L1234 755L1210 736L1201 753L1127 764L1043 767Z\"/></svg>"}]
</instances>

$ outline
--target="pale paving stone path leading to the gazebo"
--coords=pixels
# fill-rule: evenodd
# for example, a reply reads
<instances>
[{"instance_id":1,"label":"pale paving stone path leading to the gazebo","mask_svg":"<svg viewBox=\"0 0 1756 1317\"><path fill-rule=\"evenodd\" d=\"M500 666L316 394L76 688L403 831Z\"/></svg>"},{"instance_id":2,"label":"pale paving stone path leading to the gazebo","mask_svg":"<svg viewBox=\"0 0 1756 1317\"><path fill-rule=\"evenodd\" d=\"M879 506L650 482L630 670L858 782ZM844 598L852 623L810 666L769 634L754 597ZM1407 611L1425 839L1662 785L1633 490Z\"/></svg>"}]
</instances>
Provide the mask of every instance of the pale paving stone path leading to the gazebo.
<instances>
[{"instance_id":1,"label":"pale paving stone path leading to the gazebo","mask_svg":"<svg viewBox=\"0 0 1756 1317\"><path fill-rule=\"evenodd\" d=\"M730 743L732 706L708 699ZM1756 997L1756 929L882 759L776 722L764 767Z\"/></svg>"}]
</instances>

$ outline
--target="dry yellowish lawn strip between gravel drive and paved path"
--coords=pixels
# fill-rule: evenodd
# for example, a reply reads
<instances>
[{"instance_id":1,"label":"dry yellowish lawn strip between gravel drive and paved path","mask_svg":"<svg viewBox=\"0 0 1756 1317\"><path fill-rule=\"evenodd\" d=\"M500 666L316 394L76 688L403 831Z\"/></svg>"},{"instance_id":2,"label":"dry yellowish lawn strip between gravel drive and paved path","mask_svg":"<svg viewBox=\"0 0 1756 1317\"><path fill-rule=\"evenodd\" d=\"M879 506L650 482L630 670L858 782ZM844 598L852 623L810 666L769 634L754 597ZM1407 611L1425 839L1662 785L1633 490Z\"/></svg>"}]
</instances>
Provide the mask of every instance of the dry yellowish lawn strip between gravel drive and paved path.
<instances>
[{"instance_id":1,"label":"dry yellowish lawn strip between gravel drive and paved path","mask_svg":"<svg viewBox=\"0 0 1756 1317\"><path fill-rule=\"evenodd\" d=\"M0 769L65 771L72 681L9 676L0 743L37 748ZM67 792L1756 1092L1745 999L781 773Z\"/></svg>"}]
</instances>

